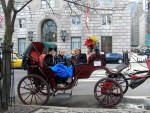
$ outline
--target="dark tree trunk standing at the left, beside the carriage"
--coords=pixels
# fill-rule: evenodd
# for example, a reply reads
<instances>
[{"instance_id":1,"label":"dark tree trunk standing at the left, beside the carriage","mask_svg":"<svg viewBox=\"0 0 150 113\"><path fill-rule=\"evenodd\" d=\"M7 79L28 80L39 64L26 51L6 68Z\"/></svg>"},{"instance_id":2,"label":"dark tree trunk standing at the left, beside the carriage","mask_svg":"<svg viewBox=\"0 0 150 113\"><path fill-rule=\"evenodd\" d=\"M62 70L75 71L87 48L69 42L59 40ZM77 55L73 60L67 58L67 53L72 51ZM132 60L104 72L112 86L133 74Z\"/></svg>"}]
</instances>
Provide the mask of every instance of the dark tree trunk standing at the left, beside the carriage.
<instances>
[{"instance_id":1,"label":"dark tree trunk standing at the left, beside the carriage","mask_svg":"<svg viewBox=\"0 0 150 113\"><path fill-rule=\"evenodd\" d=\"M6 19L5 19L6 20ZM4 42L2 45L2 109L8 109L10 101L10 86L11 86L11 52L12 52L12 34L13 28L11 21L7 21Z\"/></svg>"}]
</instances>

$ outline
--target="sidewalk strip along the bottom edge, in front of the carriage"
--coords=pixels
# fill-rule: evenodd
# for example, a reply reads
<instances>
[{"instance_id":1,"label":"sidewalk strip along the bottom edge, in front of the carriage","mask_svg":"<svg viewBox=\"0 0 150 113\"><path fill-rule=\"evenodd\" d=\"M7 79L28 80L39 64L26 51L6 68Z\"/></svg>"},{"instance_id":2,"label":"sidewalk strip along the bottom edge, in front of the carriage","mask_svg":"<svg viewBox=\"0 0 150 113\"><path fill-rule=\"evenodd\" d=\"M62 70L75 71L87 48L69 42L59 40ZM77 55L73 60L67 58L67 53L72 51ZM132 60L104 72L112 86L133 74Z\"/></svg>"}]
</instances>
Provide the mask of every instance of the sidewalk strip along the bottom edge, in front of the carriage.
<instances>
[{"instance_id":1,"label":"sidewalk strip along the bottom edge, in front of the carriage","mask_svg":"<svg viewBox=\"0 0 150 113\"><path fill-rule=\"evenodd\" d=\"M71 108L54 106L25 106L16 105L2 113L150 113L141 109L108 109L108 108Z\"/></svg>"}]
</instances>

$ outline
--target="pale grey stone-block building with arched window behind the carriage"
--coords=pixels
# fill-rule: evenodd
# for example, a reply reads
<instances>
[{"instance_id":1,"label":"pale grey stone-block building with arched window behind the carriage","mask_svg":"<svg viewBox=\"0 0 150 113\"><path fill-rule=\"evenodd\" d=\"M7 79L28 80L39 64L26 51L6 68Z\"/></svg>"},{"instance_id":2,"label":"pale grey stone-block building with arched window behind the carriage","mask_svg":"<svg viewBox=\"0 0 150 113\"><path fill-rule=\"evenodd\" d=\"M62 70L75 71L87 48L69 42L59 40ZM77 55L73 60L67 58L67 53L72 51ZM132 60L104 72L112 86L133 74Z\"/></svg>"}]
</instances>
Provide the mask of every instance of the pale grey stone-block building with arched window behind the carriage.
<instances>
[{"instance_id":1,"label":"pale grey stone-block building with arched window behind the carriage","mask_svg":"<svg viewBox=\"0 0 150 113\"><path fill-rule=\"evenodd\" d=\"M13 34L15 52L23 53L31 41L46 41L55 42L57 50L63 48L70 52L81 48L86 53L84 42L88 35L99 39L99 48L104 52L122 52L130 48L128 0L77 0L79 4L88 4L98 9L95 11L89 8L89 30L85 25L86 7L76 7L71 3L68 5L63 0L47 1L48 3L46 0L33 0L18 14ZM20 6L20 2L16 2L16 7ZM3 21L0 26L1 41L4 27ZM67 34L63 40L61 33ZM30 38L33 37L32 40L29 35Z\"/></svg>"}]
</instances>

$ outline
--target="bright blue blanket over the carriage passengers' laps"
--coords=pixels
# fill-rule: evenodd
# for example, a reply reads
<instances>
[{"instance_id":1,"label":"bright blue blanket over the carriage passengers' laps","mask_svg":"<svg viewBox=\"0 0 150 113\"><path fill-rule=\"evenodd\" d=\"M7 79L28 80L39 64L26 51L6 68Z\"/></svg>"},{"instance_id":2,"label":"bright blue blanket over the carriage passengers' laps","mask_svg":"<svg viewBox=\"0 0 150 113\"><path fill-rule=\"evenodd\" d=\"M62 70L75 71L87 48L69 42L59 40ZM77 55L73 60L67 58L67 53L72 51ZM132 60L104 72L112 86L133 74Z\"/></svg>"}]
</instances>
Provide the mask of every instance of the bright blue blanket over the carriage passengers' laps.
<instances>
[{"instance_id":1,"label":"bright blue blanket over the carriage passengers' laps","mask_svg":"<svg viewBox=\"0 0 150 113\"><path fill-rule=\"evenodd\" d=\"M50 67L56 76L61 78L72 77L73 71L72 66L65 66L64 64L56 64L55 66Z\"/></svg>"}]
</instances>

